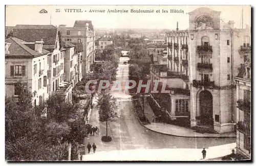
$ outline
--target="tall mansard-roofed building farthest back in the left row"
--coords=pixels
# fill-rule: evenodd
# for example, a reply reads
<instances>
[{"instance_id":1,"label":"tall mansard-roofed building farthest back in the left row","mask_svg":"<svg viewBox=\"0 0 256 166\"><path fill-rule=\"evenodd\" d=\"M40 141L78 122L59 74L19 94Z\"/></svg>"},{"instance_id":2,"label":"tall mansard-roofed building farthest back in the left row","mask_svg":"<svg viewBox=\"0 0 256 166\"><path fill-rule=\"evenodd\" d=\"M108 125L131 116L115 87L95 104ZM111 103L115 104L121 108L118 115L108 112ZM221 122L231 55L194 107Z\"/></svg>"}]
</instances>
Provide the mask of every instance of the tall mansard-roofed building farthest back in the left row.
<instances>
[{"instance_id":1,"label":"tall mansard-roofed building farthest back in the left row","mask_svg":"<svg viewBox=\"0 0 256 166\"><path fill-rule=\"evenodd\" d=\"M79 60L82 62L82 77L85 77L90 72L95 56L95 32L92 21L76 20L73 27L60 25L59 29L64 40L71 41L73 44L82 43L82 57Z\"/></svg>"}]
</instances>

